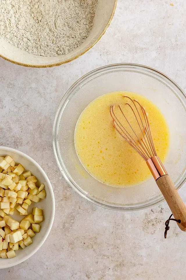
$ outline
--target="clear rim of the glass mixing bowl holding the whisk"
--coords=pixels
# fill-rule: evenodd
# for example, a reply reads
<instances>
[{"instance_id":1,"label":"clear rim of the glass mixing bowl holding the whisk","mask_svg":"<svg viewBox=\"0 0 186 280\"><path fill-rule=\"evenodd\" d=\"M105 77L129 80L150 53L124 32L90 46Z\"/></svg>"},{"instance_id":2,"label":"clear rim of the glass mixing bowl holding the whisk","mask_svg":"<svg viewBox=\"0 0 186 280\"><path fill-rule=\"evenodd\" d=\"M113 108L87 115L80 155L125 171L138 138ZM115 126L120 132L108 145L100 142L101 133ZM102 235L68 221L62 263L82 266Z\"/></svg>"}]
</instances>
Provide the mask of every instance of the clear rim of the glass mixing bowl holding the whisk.
<instances>
[{"instance_id":1,"label":"clear rim of the glass mixing bowl holding the whisk","mask_svg":"<svg viewBox=\"0 0 186 280\"><path fill-rule=\"evenodd\" d=\"M65 104L66 104L66 100L69 98L69 96L71 94L73 94L73 91L75 90L75 88L77 86L80 86L81 83L83 83L87 78L90 78L92 76L94 76L95 74L99 73L99 72L105 72L106 70L114 70L116 68L120 68L120 67L124 67L125 69L127 68L133 68L133 69L138 69L138 70L146 70L148 71L151 75L153 74L156 74L158 76L160 76L164 81L165 83L170 83L170 84L173 84L177 89L178 89L178 92L179 92L179 97L183 103L183 105L185 106L185 109L186 109L186 95L185 93L183 92L183 90L171 79L169 78L168 76L166 76L165 74L163 74L162 72L156 70L156 69L153 69L151 67L148 67L148 66L145 66L145 65L142 65L142 64L135 64L135 63L117 63L117 64L109 64L109 65L105 65L105 66L102 66L102 67L99 67L99 68L96 68L90 72L88 72L87 74L85 74L84 76L82 76L81 78L79 78L73 85L71 85L71 87L67 90L67 92L63 95L60 103L59 103L59 106L58 106L58 109L57 109L57 112L56 112L56 116L55 116L55 119L54 119L54 125L53 125L53 150L54 150L54 155L55 155L55 158L56 158L56 162L58 164L58 167L63 175L63 177L65 178L65 180L67 181L67 183L79 194L81 195L82 197L84 197L85 199L87 199L88 201L96 204L96 205L99 205L99 206L102 206L104 208L107 208L107 209L111 209L111 210L119 210L119 211L135 211L135 210L141 210L141 209L145 209L145 208L149 208L151 206L154 206L156 204L159 204L160 202L162 202L164 200L164 197L160 197L159 199L155 200L155 201L149 201L149 203L146 203L146 204L137 204L136 206L132 205L131 207L130 206L113 206L111 204L107 204L106 202L101 202L99 199L96 199L94 197L88 197L85 193L83 193L82 189L78 186L78 185L75 185L74 182L71 181L71 179L69 178L65 168L63 167L63 164L60 160L60 151L59 151L59 148L58 148L58 145L57 145L57 136L58 136L58 127L59 127L59 124L60 124L60 114L62 113L64 107L65 107ZM181 188L181 186L186 182L186 172L183 174L182 178L180 179L176 189L178 190L179 188Z\"/></svg>"}]
</instances>

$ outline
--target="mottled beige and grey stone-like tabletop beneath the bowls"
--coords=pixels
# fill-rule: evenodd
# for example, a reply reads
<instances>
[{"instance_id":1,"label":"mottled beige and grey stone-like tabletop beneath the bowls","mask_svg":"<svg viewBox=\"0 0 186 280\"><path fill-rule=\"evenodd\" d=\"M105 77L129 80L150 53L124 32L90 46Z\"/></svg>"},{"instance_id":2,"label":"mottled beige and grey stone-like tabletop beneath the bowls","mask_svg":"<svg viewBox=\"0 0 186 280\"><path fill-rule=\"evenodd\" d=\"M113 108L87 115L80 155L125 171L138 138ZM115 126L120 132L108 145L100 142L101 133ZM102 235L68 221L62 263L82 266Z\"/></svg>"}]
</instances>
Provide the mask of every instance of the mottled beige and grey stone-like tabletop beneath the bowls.
<instances>
[{"instance_id":1,"label":"mottled beige and grey stone-like tabletop beneath the bowls","mask_svg":"<svg viewBox=\"0 0 186 280\"><path fill-rule=\"evenodd\" d=\"M133 62L156 68L186 91L186 2L119 0L101 41L64 66L29 69L0 60L0 144L35 159L47 172L56 197L53 228L35 255L3 269L4 279L182 280L185 233L171 223L165 203L138 212L115 212L76 194L60 174L52 149L59 101L88 71L105 64ZM185 187L180 194L186 202Z\"/></svg>"}]
</instances>

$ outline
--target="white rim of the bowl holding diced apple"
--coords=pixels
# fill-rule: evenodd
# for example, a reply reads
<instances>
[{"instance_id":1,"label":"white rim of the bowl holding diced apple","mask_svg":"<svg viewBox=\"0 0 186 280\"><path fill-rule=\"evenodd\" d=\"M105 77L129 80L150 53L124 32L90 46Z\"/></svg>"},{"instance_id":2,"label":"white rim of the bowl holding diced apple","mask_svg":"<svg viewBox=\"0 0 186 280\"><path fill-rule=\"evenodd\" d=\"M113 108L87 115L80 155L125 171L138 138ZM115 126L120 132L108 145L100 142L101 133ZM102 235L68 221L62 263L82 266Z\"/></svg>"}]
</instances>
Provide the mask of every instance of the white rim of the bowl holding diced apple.
<instances>
[{"instance_id":1,"label":"white rim of the bowl holding diced apple","mask_svg":"<svg viewBox=\"0 0 186 280\"><path fill-rule=\"evenodd\" d=\"M47 230L46 230L44 236L42 237L42 239L40 240L40 242L38 242L37 248L35 250L31 251L28 255L26 255L25 257L23 257L19 261L16 261L16 258L15 258L15 262L13 262L12 264L1 265L0 269L4 269L4 268L12 267L12 266L15 266L15 265L19 265L19 263L24 262L25 260L30 258L32 255L34 255L39 250L39 248L43 245L43 243L47 239L47 237L48 237L48 235L51 231L52 225L53 225L54 215L55 215L55 197L54 197L51 182L50 182L47 174L42 169L42 167L40 167L40 165L35 160L33 160L33 158L31 158L29 155L26 155L23 152L20 152L16 149L9 148L9 147L0 146L0 150L8 150L10 152L17 153L18 155L21 155L21 156L27 158L28 160L30 160L37 167L37 169L42 173L43 177L45 178L45 180L47 182L47 185L48 185L48 188L49 188L49 194L51 196L51 201L52 201L52 203L51 203L52 213L51 213L51 218L50 218L50 222L49 222L49 227L47 228Z\"/></svg>"}]
</instances>

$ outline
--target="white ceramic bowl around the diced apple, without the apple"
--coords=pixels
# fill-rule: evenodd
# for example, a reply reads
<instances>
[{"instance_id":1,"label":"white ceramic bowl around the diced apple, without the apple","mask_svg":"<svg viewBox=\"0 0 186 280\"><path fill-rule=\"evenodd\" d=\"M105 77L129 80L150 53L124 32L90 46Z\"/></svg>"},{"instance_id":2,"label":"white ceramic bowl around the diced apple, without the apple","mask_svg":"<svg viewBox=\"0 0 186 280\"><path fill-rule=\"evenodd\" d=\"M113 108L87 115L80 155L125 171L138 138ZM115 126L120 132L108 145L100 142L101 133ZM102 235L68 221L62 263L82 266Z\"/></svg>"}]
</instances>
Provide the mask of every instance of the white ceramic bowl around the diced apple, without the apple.
<instances>
[{"instance_id":1,"label":"white ceramic bowl around the diced apple, without the apple","mask_svg":"<svg viewBox=\"0 0 186 280\"><path fill-rule=\"evenodd\" d=\"M41 223L40 232L33 237L33 243L31 245L26 247L24 250L20 248L19 251L16 251L15 258L0 258L0 268L8 268L14 265L18 265L19 263L30 258L47 239L47 236L49 235L54 220L55 199L49 178L47 177L44 170L40 167L40 165L37 162L35 162L35 160L15 149L0 146L0 156L3 155L12 156L15 162L21 163L25 167L25 169L30 170L39 179L41 183L45 184L45 190L47 192L45 199L40 199L40 202L32 203L32 207L29 207L30 209L32 209L35 204L37 205L37 207L43 209L44 221ZM21 217L23 216L16 216L16 218L17 217L19 217L19 220L21 220Z\"/></svg>"}]
</instances>

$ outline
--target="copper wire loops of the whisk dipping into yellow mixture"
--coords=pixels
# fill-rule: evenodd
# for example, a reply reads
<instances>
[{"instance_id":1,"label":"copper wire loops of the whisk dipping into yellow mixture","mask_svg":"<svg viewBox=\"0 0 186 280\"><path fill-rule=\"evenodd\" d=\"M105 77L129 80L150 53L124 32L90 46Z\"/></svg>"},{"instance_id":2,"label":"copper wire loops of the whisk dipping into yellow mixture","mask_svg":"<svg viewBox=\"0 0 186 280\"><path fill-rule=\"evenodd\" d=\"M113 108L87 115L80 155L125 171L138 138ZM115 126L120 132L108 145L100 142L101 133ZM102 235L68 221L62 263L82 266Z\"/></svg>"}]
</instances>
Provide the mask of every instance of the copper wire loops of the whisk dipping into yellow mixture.
<instances>
[{"instance_id":1,"label":"copper wire loops of the whisk dipping into yellow mixture","mask_svg":"<svg viewBox=\"0 0 186 280\"><path fill-rule=\"evenodd\" d=\"M121 105L118 105L119 110L115 110L116 106L113 105L110 106L110 115L113 119L114 128L147 161L149 158L157 156L147 114L137 100L133 100L128 96L124 96L124 98L128 99L124 105L131 109L135 119L135 127L131 124L130 119L126 117Z\"/></svg>"}]
</instances>

